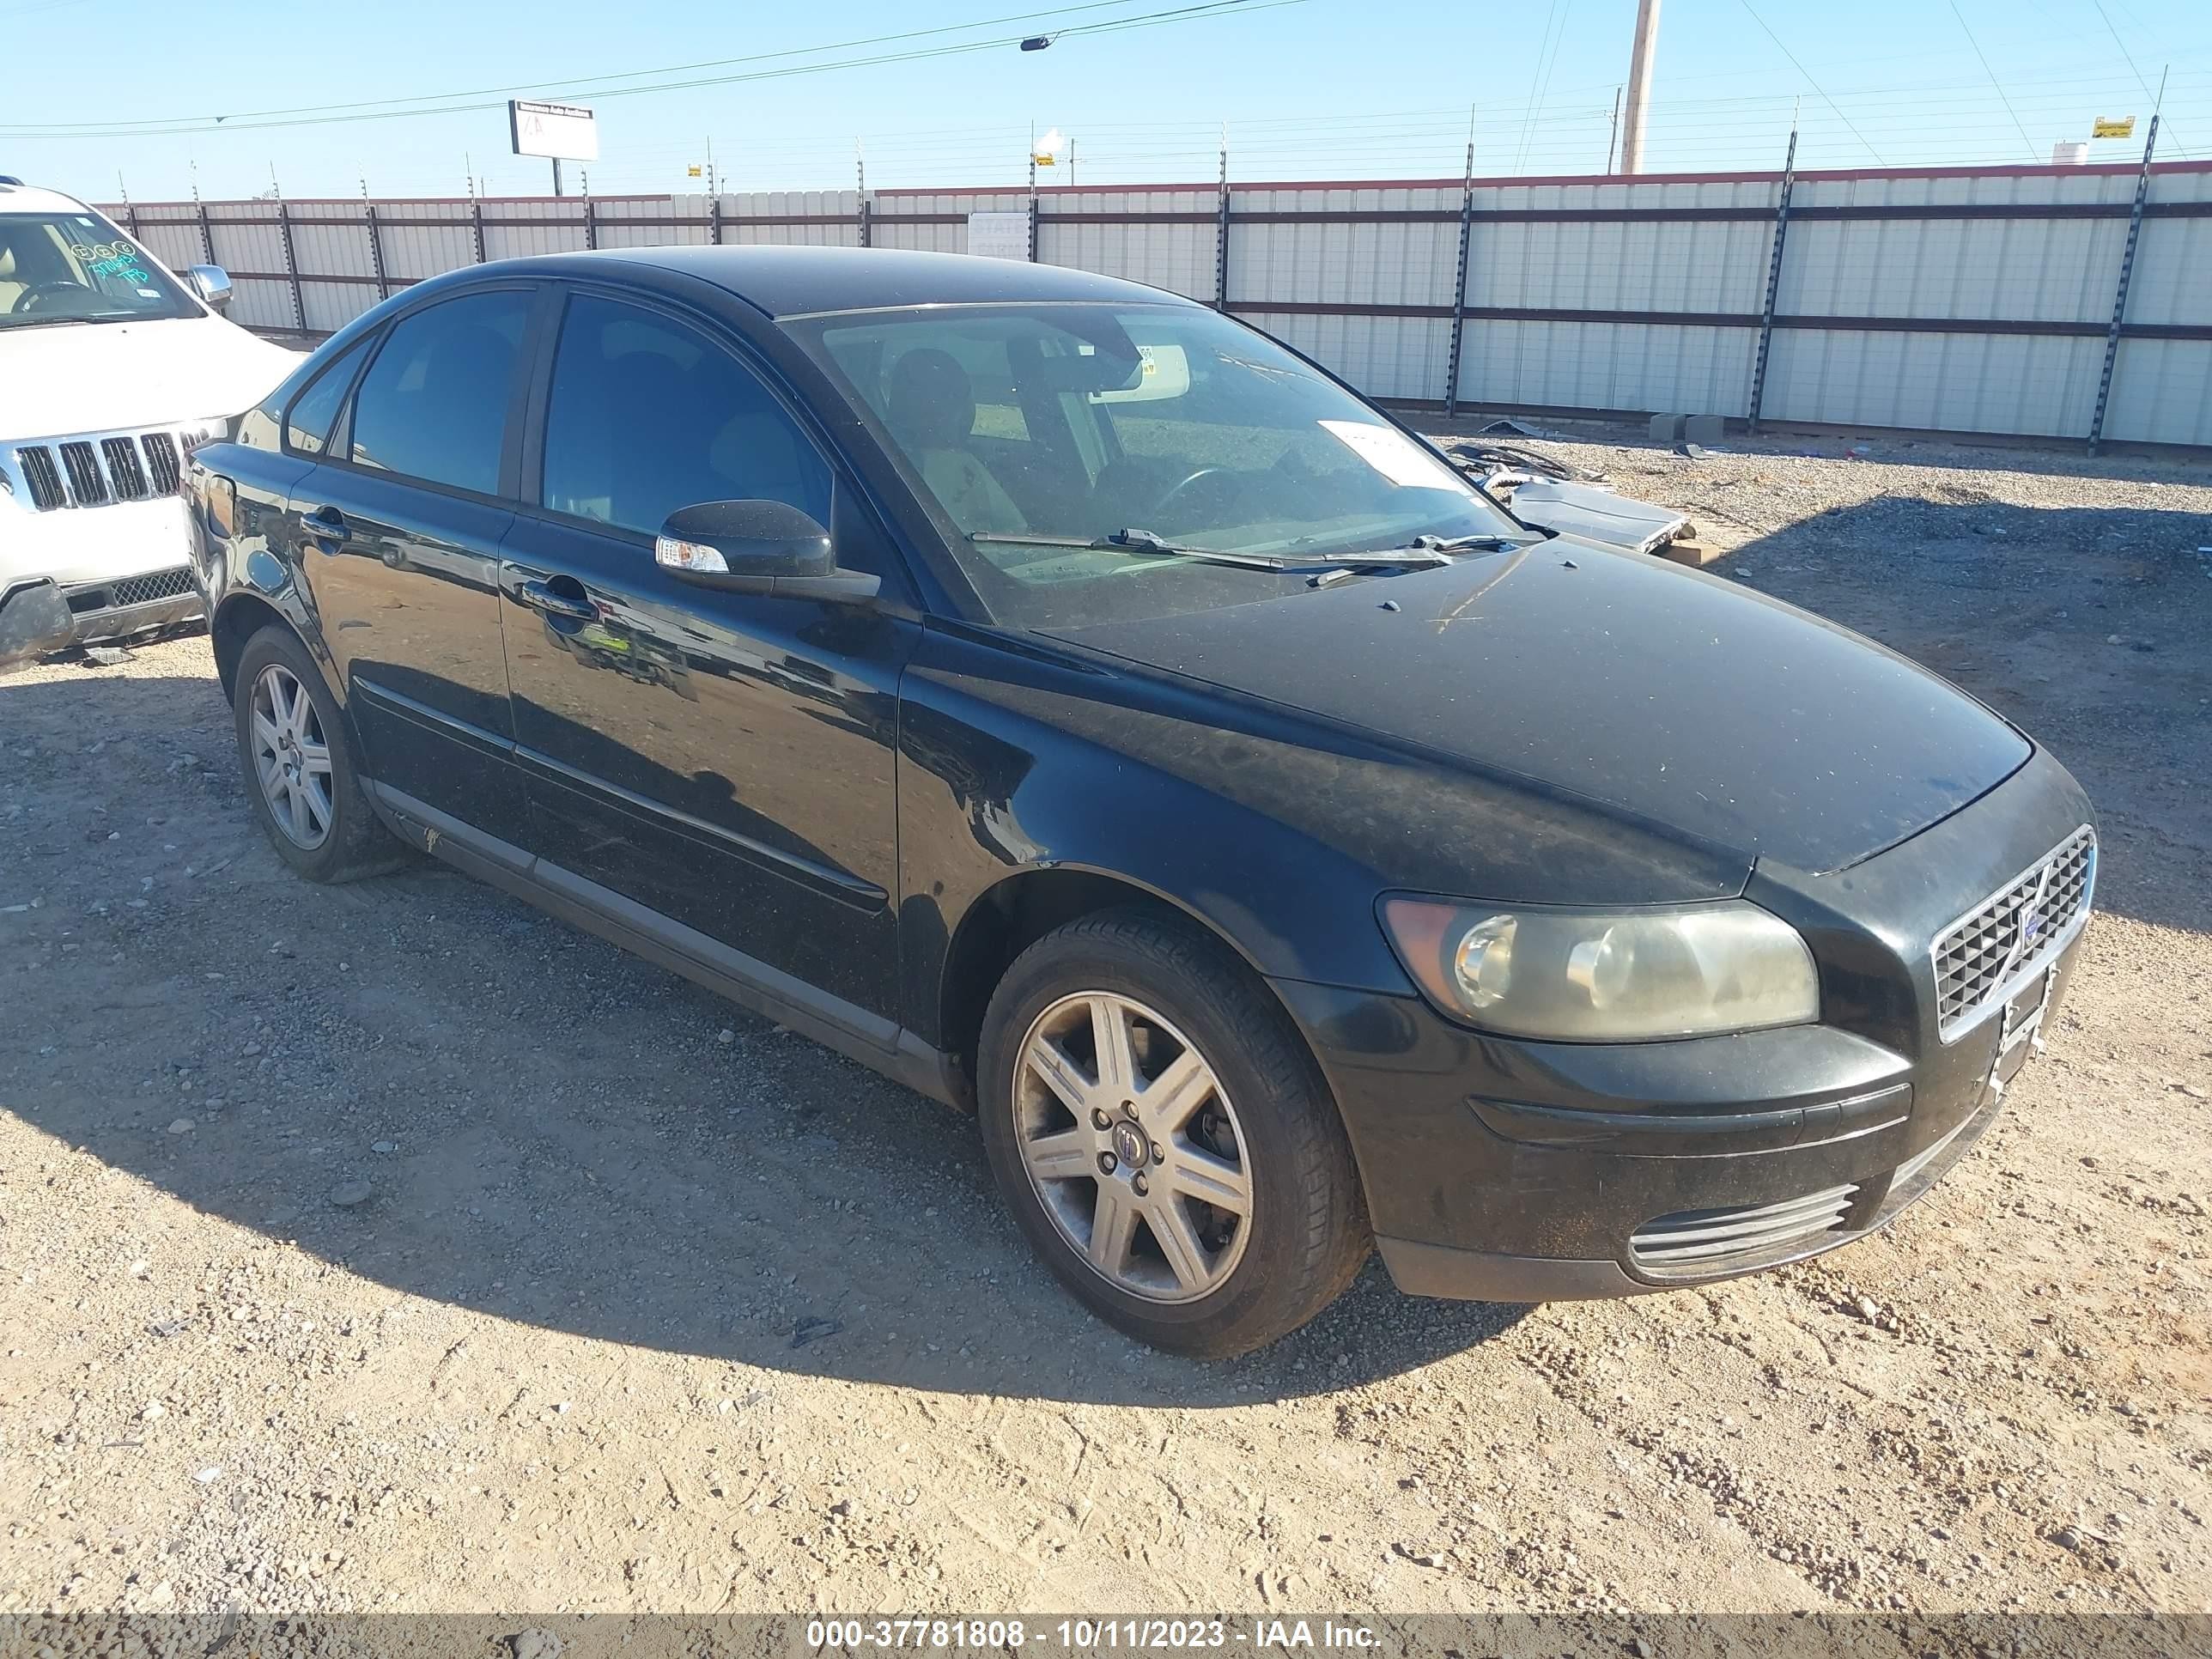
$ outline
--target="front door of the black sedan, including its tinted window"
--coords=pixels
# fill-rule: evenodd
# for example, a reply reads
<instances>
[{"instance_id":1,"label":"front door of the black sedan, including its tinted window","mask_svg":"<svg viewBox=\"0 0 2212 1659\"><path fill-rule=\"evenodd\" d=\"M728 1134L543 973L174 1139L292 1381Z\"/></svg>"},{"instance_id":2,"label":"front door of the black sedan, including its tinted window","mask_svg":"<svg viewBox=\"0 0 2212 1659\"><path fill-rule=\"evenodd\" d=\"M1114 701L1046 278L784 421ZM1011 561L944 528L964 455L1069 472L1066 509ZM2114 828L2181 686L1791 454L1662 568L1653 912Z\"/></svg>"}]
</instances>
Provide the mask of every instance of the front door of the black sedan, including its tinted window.
<instances>
[{"instance_id":1,"label":"front door of the black sedan, including its tinted window","mask_svg":"<svg viewBox=\"0 0 2212 1659\"><path fill-rule=\"evenodd\" d=\"M872 538L832 465L699 325L577 292L560 323L542 465L500 573L531 845L761 964L898 1022L896 604L714 593L661 573L679 507L781 500ZM858 557L856 557L858 555Z\"/></svg>"}]
</instances>

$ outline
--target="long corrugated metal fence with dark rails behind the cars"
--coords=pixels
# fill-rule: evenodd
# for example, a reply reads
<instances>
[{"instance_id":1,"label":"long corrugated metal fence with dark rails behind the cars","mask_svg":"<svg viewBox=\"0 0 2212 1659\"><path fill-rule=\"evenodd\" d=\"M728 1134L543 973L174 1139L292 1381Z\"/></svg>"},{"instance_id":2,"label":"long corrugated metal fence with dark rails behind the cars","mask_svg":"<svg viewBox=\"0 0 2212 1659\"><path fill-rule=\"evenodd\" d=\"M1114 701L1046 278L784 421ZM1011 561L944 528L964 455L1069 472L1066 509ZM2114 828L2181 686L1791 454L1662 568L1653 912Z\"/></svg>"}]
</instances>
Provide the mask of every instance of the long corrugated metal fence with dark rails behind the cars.
<instances>
[{"instance_id":1,"label":"long corrugated metal fence with dark rails behind the cars","mask_svg":"<svg viewBox=\"0 0 2212 1659\"><path fill-rule=\"evenodd\" d=\"M1009 210L1040 261L1221 305L1407 405L2212 445L2212 161L111 212L226 265L241 323L327 334L487 259L964 252Z\"/></svg>"}]
</instances>

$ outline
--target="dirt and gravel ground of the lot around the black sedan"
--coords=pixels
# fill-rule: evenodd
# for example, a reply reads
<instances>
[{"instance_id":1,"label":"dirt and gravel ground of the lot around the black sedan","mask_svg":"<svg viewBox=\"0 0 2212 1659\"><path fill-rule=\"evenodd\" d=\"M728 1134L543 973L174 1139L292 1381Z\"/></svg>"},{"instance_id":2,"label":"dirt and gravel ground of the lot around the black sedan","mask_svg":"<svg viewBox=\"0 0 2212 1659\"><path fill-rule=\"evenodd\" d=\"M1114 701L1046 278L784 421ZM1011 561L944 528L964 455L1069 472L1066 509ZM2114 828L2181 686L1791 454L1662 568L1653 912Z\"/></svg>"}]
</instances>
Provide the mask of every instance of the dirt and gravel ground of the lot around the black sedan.
<instances>
[{"instance_id":1,"label":"dirt and gravel ground of the lot around the black sedan","mask_svg":"<svg viewBox=\"0 0 2212 1659\"><path fill-rule=\"evenodd\" d=\"M2212 489L1566 447L2104 812L2051 1053L1820 1263L1206 1369L971 1124L438 867L290 878L208 646L0 679L0 1610L2212 1608Z\"/></svg>"}]
</instances>

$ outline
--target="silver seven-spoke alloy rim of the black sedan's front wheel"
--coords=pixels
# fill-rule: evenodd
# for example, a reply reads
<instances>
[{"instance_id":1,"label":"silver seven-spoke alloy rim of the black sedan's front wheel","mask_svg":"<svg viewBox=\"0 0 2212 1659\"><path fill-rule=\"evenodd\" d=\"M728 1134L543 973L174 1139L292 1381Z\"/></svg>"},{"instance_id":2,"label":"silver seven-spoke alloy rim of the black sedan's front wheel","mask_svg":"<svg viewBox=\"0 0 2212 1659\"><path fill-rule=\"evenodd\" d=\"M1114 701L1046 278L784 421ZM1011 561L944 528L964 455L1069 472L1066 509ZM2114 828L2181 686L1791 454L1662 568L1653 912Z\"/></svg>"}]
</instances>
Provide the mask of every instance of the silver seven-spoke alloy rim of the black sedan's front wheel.
<instances>
[{"instance_id":1,"label":"silver seven-spoke alloy rim of the black sedan's front wheel","mask_svg":"<svg viewBox=\"0 0 2212 1659\"><path fill-rule=\"evenodd\" d=\"M1110 991L1053 1002L1013 1077L1022 1168L1062 1237L1117 1290L1188 1303L1252 1232L1252 1159L1206 1055Z\"/></svg>"}]
</instances>

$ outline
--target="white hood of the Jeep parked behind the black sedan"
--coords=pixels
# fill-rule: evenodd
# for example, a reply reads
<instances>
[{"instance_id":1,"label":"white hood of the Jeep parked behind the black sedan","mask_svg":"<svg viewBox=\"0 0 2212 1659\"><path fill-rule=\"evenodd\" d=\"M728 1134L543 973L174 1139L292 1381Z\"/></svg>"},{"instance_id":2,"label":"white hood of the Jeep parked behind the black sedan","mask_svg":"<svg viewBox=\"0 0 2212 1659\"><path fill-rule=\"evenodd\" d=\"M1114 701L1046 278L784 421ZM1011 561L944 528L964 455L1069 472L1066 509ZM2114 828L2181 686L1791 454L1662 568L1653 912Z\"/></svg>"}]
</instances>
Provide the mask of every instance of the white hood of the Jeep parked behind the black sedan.
<instances>
[{"instance_id":1,"label":"white hood of the Jeep parked behind the black sedan","mask_svg":"<svg viewBox=\"0 0 2212 1659\"><path fill-rule=\"evenodd\" d=\"M299 361L221 316L0 327L0 442L234 416Z\"/></svg>"}]
</instances>

